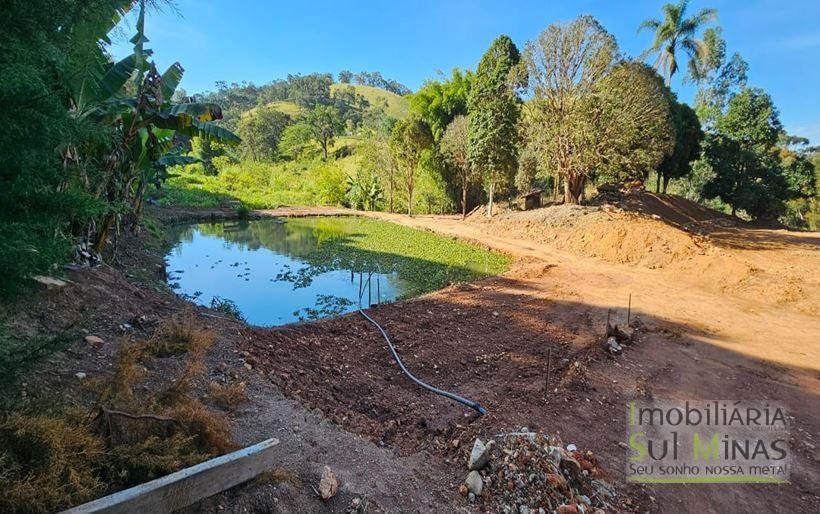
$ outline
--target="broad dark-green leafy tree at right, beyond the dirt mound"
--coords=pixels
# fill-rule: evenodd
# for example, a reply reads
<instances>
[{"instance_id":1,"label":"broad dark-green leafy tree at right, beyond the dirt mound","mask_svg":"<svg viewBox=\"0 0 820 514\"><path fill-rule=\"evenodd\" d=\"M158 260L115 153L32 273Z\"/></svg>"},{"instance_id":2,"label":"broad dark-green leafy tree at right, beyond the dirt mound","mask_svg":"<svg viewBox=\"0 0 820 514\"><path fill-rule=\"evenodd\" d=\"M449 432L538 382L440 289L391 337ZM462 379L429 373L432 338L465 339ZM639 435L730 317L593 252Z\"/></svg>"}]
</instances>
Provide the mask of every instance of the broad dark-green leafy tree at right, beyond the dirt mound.
<instances>
[{"instance_id":1,"label":"broad dark-green leafy tree at right, beyond the dirt mound","mask_svg":"<svg viewBox=\"0 0 820 514\"><path fill-rule=\"evenodd\" d=\"M716 132L706 138L704 160L714 176L706 198L720 198L754 219L776 219L791 197L777 148L782 126L771 97L745 88L729 100Z\"/></svg>"}]
</instances>

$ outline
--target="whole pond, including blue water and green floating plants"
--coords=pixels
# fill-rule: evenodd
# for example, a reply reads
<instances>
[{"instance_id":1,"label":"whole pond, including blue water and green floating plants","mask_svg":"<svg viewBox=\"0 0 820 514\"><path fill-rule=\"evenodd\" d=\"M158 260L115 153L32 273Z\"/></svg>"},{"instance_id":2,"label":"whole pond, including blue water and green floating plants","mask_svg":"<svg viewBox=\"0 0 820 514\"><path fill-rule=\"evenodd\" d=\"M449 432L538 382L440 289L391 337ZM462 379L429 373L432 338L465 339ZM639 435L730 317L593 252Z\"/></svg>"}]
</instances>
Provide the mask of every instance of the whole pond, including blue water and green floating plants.
<instances>
[{"instance_id":1,"label":"whole pond, including blue water and green floating plants","mask_svg":"<svg viewBox=\"0 0 820 514\"><path fill-rule=\"evenodd\" d=\"M365 218L199 223L175 226L170 235L166 269L177 294L260 326L352 312L360 290L366 307L509 265L473 245Z\"/></svg>"}]
</instances>

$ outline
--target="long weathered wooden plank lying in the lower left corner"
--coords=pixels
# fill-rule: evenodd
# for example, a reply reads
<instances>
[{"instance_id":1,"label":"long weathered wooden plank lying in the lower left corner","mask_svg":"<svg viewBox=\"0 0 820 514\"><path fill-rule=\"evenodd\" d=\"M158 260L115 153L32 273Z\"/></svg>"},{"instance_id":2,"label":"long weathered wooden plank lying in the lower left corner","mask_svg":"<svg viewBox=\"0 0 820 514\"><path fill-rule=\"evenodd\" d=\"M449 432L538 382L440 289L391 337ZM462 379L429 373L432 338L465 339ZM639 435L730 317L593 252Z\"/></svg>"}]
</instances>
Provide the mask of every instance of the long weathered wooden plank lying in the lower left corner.
<instances>
[{"instance_id":1,"label":"long weathered wooden plank lying in the lower left corner","mask_svg":"<svg viewBox=\"0 0 820 514\"><path fill-rule=\"evenodd\" d=\"M273 455L278 444L278 439L267 439L162 478L84 503L64 511L63 514L170 513L272 469Z\"/></svg>"}]
</instances>

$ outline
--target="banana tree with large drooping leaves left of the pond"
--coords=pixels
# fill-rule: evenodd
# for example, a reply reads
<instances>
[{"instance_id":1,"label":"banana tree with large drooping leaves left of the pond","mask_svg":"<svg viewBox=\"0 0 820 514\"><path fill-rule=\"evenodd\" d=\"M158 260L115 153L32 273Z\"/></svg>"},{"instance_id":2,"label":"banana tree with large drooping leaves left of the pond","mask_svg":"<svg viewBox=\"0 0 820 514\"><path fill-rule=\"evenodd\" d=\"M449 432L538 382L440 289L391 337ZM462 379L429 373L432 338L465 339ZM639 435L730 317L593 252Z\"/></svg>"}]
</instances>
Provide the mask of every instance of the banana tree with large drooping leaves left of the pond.
<instances>
[{"instance_id":1,"label":"banana tree with large drooping leaves left of the pond","mask_svg":"<svg viewBox=\"0 0 820 514\"><path fill-rule=\"evenodd\" d=\"M98 191L109 208L96 230L97 252L102 252L112 225L123 213L134 214L132 228L136 230L146 186L161 182L167 175L167 166L196 161L181 155L178 135L227 144L240 142L233 132L214 123L222 118L218 105L172 103L184 70L174 63L160 74L150 60L152 52L145 48L145 0L139 2L136 29L131 38L134 52L90 80L77 96L78 116L93 116L110 123L117 133ZM136 94L129 96L129 90L136 90Z\"/></svg>"}]
</instances>

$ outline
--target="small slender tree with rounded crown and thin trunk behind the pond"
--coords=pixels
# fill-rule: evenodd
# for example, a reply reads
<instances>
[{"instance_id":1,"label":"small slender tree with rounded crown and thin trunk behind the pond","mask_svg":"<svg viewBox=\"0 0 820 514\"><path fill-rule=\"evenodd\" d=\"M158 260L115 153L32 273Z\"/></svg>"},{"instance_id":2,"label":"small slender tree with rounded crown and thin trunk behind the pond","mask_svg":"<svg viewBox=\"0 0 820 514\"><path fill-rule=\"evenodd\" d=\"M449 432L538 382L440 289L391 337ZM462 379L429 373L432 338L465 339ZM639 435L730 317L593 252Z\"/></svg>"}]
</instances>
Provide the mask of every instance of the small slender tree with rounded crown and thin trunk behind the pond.
<instances>
[{"instance_id":1,"label":"small slender tree with rounded crown and thin trunk behind the pond","mask_svg":"<svg viewBox=\"0 0 820 514\"><path fill-rule=\"evenodd\" d=\"M418 116L408 116L393 126L389 145L407 193L407 214L412 215L419 162L422 153L433 145L433 135L424 120Z\"/></svg>"}]
</instances>

